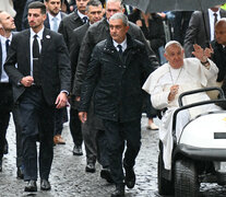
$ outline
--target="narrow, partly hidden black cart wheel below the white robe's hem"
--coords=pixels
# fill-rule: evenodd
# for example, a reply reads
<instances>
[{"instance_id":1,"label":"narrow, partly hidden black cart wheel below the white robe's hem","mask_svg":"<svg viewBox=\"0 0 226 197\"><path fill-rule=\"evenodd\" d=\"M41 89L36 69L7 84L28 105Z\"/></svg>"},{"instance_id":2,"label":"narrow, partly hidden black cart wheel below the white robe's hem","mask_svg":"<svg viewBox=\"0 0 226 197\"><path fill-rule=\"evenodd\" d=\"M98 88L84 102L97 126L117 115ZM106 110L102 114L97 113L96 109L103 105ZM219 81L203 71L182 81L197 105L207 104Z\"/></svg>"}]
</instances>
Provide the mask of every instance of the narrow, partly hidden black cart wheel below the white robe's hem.
<instances>
[{"instance_id":1,"label":"narrow, partly hidden black cart wheel below the white robe's hem","mask_svg":"<svg viewBox=\"0 0 226 197\"><path fill-rule=\"evenodd\" d=\"M157 182L158 182L158 194L159 195L171 195L174 194L173 182L163 177L164 162L163 152L159 151L158 165L157 165Z\"/></svg>"}]
</instances>

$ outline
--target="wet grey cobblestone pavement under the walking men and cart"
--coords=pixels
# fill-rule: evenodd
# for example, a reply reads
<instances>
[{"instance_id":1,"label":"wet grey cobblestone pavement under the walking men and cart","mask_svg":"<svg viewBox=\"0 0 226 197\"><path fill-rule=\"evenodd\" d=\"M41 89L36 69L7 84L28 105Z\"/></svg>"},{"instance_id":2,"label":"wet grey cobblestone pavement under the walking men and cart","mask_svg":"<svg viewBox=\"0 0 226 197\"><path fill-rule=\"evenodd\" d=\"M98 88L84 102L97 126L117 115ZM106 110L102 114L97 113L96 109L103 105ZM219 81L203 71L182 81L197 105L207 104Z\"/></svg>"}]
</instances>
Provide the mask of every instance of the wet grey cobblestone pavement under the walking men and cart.
<instances>
[{"instance_id":1,"label":"wet grey cobblestone pavement under the walking men and cart","mask_svg":"<svg viewBox=\"0 0 226 197\"><path fill-rule=\"evenodd\" d=\"M157 154L158 134L147 130L146 117L142 118L142 147L136 159L136 185L133 189L126 190L126 197L158 197L157 193ZM156 123L158 123L156 120ZM33 194L24 193L25 183L16 178L15 169L15 135L11 121L8 129L10 143L9 154L3 158L3 172L0 173L0 197L108 197L114 186L99 177L100 166L96 165L96 173L85 173L85 155L72 154L73 142L68 124L63 128L64 146L55 147L55 159L50 174L51 190ZM83 147L84 150L84 147ZM39 179L38 179L39 181ZM201 196L223 197L226 188L216 184L202 184Z\"/></svg>"}]
</instances>

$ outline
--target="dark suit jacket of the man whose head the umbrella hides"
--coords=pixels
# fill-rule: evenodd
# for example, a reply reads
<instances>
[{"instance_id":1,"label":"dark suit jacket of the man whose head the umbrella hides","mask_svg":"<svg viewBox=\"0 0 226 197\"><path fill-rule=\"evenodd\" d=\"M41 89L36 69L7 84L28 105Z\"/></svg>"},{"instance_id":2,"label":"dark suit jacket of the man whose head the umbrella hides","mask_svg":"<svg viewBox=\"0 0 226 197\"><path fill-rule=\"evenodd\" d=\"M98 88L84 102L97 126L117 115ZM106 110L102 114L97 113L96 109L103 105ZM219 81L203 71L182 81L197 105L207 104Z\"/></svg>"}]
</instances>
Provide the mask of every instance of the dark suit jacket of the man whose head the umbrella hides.
<instances>
[{"instance_id":1,"label":"dark suit jacket of the man whose head the umbrella hides","mask_svg":"<svg viewBox=\"0 0 226 197\"><path fill-rule=\"evenodd\" d=\"M226 11L221 9L219 15L221 18L226 18ZM210 18L207 11L204 12L204 21L201 11L192 13L185 37L186 57L192 56L191 53L193 51L193 44L198 44L203 48L206 47L206 44L211 40L210 28Z\"/></svg>"}]
</instances>

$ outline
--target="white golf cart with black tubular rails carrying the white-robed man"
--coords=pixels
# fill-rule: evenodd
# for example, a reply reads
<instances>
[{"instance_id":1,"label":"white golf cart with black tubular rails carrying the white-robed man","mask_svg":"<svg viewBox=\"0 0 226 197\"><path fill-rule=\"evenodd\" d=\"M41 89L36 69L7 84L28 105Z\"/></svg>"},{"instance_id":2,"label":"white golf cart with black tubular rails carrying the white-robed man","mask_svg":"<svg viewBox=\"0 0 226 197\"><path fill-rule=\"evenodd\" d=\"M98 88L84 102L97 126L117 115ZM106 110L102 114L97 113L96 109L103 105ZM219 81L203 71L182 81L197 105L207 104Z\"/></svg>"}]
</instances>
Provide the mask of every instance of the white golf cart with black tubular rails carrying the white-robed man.
<instances>
[{"instance_id":1,"label":"white golf cart with black tubular rails carrying the white-robed man","mask_svg":"<svg viewBox=\"0 0 226 197\"><path fill-rule=\"evenodd\" d=\"M190 105L182 97L200 92L218 91L217 100ZM200 105L226 102L219 88L185 92L179 96L179 108L174 114L171 171L164 169L163 144L159 141L158 193L176 197L199 196L200 183L226 185L226 111L203 113L191 119L176 139L176 117L180 111Z\"/></svg>"}]
</instances>

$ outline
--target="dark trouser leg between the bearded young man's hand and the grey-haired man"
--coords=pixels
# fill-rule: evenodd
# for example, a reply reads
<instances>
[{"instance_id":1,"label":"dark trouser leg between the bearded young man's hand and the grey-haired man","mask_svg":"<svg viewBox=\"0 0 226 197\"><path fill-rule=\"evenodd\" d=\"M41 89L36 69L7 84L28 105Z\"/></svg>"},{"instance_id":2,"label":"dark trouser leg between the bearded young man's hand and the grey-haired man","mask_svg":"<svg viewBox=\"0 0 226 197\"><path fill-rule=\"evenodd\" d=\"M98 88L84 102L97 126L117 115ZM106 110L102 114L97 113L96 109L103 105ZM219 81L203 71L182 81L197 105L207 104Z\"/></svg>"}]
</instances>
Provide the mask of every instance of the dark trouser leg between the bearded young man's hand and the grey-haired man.
<instances>
[{"instance_id":1,"label":"dark trouser leg between the bearded young man's hand and the grey-haired man","mask_svg":"<svg viewBox=\"0 0 226 197\"><path fill-rule=\"evenodd\" d=\"M83 137L82 137L82 126L81 121L79 118L79 112L78 109L71 107L70 108L70 130L71 130L71 136L73 139L74 144L82 146Z\"/></svg>"}]
</instances>

